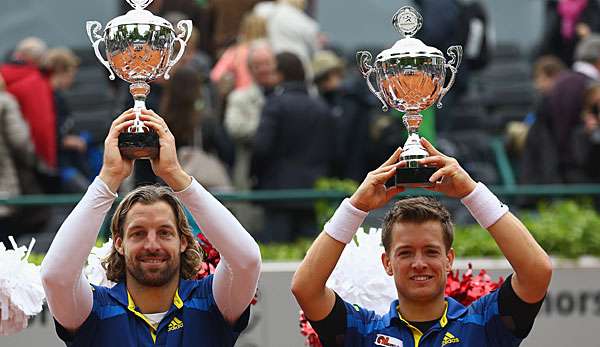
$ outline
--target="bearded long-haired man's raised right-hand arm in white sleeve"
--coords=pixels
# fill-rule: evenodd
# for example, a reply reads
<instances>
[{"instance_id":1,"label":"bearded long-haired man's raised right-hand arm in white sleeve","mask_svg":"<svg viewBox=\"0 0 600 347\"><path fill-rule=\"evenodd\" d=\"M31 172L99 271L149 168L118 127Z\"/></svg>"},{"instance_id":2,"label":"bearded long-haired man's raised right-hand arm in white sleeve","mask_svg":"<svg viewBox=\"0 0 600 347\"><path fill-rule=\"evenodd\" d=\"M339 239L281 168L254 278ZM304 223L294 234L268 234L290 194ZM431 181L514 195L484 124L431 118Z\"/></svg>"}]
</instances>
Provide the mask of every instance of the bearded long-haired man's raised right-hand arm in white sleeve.
<instances>
[{"instance_id":1,"label":"bearded long-haired man's raised right-hand arm in white sleeve","mask_svg":"<svg viewBox=\"0 0 600 347\"><path fill-rule=\"evenodd\" d=\"M154 173L176 192L206 238L221 253L213 293L221 314L233 325L256 293L261 266L258 244L225 206L181 169L175 139L164 120L152 111L144 111L142 120L160 138L160 155L152 161Z\"/></svg>"}]
</instances>

